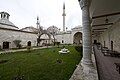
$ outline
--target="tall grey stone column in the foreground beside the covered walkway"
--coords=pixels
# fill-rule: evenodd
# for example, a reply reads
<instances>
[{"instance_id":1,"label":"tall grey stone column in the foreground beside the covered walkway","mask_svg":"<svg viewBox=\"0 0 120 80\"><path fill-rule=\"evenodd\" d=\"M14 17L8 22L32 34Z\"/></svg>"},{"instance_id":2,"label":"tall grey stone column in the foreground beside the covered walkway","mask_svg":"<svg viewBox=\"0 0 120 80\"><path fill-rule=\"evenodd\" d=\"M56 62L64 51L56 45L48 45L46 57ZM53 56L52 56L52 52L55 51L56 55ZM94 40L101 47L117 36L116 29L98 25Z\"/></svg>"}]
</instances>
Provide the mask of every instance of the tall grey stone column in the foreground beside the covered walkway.
<instances>
[{"instance_id":1,"label":"tall grey stone column in the foreground beside the covered walkway","mask_svg":"<svg viewBox=\"0 0 120 80\"><path fill-rule=\"evenodd\" d=\"M78 1L82 9L82 25L83 25L83 58L81 60L81 65L91 66L92 36L89 14L89 6L91 0L78 0Z\"/></svg>"}]
</instances>

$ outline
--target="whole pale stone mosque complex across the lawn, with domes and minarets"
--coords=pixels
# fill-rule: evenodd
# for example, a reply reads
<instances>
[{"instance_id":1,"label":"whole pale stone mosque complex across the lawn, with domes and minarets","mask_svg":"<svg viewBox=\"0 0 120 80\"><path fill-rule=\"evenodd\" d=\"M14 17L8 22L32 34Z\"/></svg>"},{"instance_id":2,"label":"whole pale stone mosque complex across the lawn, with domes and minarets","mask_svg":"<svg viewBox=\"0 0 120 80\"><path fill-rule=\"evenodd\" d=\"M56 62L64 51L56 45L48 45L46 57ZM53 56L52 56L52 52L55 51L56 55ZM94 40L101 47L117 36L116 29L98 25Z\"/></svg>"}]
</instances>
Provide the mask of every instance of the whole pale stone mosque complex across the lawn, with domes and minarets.
<instances>
[{"instance_id":1,"label":"whole pale stone mosque complex across the lawn, with domes and minarets","mask_svg":"<svg viewBox=\"0 0 120 80\"><path fill-rule=\"evenodd\" d=\"M22 47L26 47L30 41L31 46L44 46L60 42L61 44L79 44L82 43L82 27L79 25L67 31L65 27L65 4L63 5L63 31L56 26L50 26L46 30L40 25L39 17L37 17L37 27L29 26L22 29L15 26L10 20L10 14L0 12L0 48L10 49L16 48L14 41L20 40Z\"/></svg>"}]
</instances>

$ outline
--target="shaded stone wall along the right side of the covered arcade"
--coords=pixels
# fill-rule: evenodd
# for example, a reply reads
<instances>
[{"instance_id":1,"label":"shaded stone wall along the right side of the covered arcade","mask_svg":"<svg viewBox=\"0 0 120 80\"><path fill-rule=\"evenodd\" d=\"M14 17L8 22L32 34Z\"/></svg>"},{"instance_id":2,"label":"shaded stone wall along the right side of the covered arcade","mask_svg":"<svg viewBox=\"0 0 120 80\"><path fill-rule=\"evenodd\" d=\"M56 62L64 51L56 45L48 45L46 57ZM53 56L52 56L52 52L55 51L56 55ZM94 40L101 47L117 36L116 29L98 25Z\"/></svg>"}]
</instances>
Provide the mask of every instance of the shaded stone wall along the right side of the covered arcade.
<instances>
[{"instance_id":1,"label":"shaded stone wall along the right side of the covered arcade","mask_svg":"<svg viewBox=\"0 0 120 80\"><path fill-rule=\"evenodd\" d=\"M109 27L104 33L99 37L99 42L102 45L111 49L111 41L113 41L113 50L120 52L120 20Z\"/></svg>"}]
</instances>

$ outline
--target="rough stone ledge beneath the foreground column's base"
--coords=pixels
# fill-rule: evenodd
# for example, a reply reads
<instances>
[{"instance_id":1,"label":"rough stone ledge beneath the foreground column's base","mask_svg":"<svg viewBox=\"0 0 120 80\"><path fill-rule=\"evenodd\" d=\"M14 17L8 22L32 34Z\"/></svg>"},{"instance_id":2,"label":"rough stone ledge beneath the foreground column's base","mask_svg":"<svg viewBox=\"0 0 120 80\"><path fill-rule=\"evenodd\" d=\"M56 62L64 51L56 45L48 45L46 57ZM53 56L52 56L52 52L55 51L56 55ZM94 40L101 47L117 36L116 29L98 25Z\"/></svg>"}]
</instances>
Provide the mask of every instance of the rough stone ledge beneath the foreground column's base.
<instances>
[{"instance_id":1,"label":"rough stone ledge beneath the foreground column's base","mask_svg":"<svg viewBox=\"0 0 120 80\"><path fill-rule=\"evenodd\" d=\"M86 67L87 73L83 72L83 67L81 66L81 63L79 63L69 80L98 80L94 54L92 54L92 62L92 67Z\"/></svg>"}]
</instances>

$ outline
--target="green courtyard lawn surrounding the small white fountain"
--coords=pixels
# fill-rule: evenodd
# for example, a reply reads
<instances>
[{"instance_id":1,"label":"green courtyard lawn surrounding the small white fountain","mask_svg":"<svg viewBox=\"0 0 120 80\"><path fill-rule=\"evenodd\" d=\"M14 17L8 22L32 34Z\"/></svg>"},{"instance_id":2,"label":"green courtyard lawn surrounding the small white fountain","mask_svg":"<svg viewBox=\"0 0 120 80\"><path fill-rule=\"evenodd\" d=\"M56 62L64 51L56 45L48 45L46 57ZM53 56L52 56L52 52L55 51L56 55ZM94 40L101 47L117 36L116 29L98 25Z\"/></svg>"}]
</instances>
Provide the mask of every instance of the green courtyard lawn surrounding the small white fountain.
<instances>
[{"instance_id":1,"label":"green courtyard lawn surrounding the small white fountain","mask_svg":"<svg viewBox=\"0 0 120 80\"><path fill-rule=\"evenodd\" d=\"M59 54L61 48L46 48L31 52L1 54L0 80L69 80L81 55L74 46L67 46L69 54ZM61 63L59 63L60 60Z\"/></svg>"}]
</instances>

